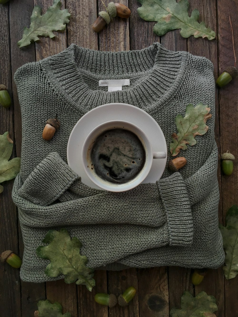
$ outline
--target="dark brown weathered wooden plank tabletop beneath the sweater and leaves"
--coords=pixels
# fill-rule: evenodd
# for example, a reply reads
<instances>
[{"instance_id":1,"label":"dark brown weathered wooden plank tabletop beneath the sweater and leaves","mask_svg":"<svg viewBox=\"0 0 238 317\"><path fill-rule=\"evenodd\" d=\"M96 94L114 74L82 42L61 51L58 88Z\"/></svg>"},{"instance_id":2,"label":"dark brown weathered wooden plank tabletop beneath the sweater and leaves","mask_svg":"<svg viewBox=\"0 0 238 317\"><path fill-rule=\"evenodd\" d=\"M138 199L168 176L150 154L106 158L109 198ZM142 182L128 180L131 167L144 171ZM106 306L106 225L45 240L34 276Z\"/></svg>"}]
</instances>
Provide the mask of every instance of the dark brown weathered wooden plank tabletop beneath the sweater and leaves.
<instances>
[{"instance_id":1,"label":"dark brown weathered wooden plank tabletop beneath the sweater and leaves","mask_svg":"<svg viewBox=\"0 0 238 317\"><path fill-rule=\"evenodd\" d=\"M0 5L0 83L6 84L13 105L9 109L0 107L0 134L10 132L14 140L12 157L21 155L21 113L17 99L17 89L13 76L18 67L31 61L38 61L56 54L71 43L90 49L120 51L142 49L153 42L161 42L167 49L188 50L190 53L205 56L214 64L214 75L229 65L235 65L238 56L238 2L237 0L190 0L191 9L198 8L200 16L212 29L217 39L190 37L184 39L175 30L161 38L153 33L154 23L139 18L136 0L121 0L132 11L130 19L115 18L100 34L94 33L90 25L103 10L101 1L64 0L63 7L71 13L67 31L56 32L55 39L41 38L39 43L19 49L17 41L21 38L23 27L30 24L33 6L46 8L52 3L47 0L10 0ZM190 10L191 10L190 9ZM229 149L238 157L237 109L238 81L216 91L215 136L219 151ZM232 204L238 204L237 164L232 176L221 175L218 168L221 192L219 218L224 222L225 214ZM0 252L12 249L23 254L21 230L18 224L17 208L11 199L13 180L4 184L0 196ZM92 293L83 286L65 284L64 281L41 284L26 283L20 280L19 271L8 265L0 267L0 316L33 317L36 303L40 299L59 301L64 312L72 317L169 317L172 307L179 307L180 298L185 290L194 295L204 290L216 298L219 307L217 317L238 316L238 278L227 281L222 269L210 270L204 281L193 287L190 269L161 267L151 269L128 269L120 272L97 271L96 287ZM96 292L119 294L130 285L138 292L133 304L126 308L116 306L108 309L94 302Z\"/></svg>"}]
</instances>

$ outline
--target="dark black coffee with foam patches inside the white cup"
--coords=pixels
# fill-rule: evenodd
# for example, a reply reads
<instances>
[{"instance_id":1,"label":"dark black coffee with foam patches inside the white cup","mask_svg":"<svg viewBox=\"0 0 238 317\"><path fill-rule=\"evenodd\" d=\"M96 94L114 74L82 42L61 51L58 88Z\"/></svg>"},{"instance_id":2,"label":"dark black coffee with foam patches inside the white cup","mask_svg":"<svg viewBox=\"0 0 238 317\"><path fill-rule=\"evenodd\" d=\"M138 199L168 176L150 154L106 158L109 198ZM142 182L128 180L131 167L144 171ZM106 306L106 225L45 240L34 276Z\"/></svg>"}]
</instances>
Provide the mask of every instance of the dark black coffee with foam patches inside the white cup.
<instances>
[{"instance_id":1,"label":"dark black coffee with foam patches inside the white cup","mask_svg":"<svg viewBox=\"0 0 238 317\"><path fill-rule=\"evenodd\" d=\"M126 183L136 177L145 163L145 150L136 134L112 129L97 137L91 151L91 168L111 183ZM90 167L89 167L90 168Z\"/></svg>"}]
</instances>

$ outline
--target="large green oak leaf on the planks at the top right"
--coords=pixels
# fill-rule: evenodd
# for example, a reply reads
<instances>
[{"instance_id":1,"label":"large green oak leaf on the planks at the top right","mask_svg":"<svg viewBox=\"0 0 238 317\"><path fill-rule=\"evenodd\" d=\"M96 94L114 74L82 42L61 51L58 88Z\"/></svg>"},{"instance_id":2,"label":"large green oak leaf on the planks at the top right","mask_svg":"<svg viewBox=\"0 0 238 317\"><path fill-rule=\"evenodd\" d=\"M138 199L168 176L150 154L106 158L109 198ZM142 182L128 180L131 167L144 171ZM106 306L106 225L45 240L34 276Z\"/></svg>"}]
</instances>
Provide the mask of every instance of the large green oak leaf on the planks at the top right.
<instances>
[{"instance_id":1,"label":"large green oak leaf on the planks at the top right","mask_svg":"<svg viewBox=\"0 0 238 317\"><path fill-rule=\"evenodd\" d=\"M139 16L146 21L157 21L154 33L162 36L175 29L181 29L183 37L207 37L215 38L216 34L210 28L206 28L204 22L199 23L199 11L194 9L191 16L188 15L188 0L138 0L142 7L138 8Z\"/></svg>"}]
</instances>

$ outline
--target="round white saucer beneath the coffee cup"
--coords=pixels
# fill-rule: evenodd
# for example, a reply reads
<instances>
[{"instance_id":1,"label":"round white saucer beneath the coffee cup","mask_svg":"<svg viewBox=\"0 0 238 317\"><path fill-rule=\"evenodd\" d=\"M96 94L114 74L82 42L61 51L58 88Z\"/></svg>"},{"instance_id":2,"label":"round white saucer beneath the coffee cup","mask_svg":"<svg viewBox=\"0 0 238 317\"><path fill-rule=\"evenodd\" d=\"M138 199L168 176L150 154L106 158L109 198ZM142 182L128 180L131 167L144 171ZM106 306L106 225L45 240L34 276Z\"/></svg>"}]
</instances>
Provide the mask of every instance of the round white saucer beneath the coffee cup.
<instances>
[{"instance_id":1,"label":"round white saucer beneath the coffee cup","mask_svg":"<svg viewBox=\"0 0 238 317\"><path fill-rule=\"evenodd\" d=\"M158 123L144 110L125 103L109 103L87 112L74 126L67 146L69 167L81 176L82 182L90 187L99 188L87 176L83 169L81 151L89 133L98 125L110 120L125 120L139 128L147 135L153 152L166 152L164 134ZM153 159L151 170L143 183L155 183L161 178L167 158Z\"/></svg>"}]
</instances>

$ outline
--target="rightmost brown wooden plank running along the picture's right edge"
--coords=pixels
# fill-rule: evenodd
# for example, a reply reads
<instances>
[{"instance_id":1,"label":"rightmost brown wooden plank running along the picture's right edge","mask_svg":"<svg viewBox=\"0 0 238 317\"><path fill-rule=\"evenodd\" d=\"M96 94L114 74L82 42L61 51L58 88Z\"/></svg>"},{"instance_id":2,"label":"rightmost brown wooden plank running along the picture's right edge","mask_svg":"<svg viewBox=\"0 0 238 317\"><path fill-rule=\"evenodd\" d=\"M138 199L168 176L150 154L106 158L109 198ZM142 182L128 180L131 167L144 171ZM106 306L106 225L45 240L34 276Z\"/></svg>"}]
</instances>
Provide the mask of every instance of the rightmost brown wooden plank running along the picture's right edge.
<instances>
[{"instance_id":1,"label":"rightmost brown wooden plank running along the picture's right edge","mask_svg":"<svg viewBox=\"0 0 238 317\"><path fill-rule=\"evenodd\" d=\"M236 66L236 56L238 56L238 3L237 1L223 2L217 1L218 14L218 39L219 39L219 74L227 66ZM233 32L233 36L232 36ZM236 138L238 126L238 95L237 79L231 81L227 86L219 89L219 108L220 108L220 141L221 153L230 150L238 157L238 140ZM237 163L231 176L221 177L221 197L223 208L223 222L229 207L238 204L238 179ZM213 281L214 284L214 281ZM232 317L238 315L238 305L235 298L238 298L237 277L231 280L225 279L225 316Z\"/></svg>"}]
</instances>

